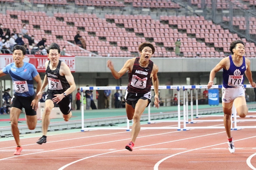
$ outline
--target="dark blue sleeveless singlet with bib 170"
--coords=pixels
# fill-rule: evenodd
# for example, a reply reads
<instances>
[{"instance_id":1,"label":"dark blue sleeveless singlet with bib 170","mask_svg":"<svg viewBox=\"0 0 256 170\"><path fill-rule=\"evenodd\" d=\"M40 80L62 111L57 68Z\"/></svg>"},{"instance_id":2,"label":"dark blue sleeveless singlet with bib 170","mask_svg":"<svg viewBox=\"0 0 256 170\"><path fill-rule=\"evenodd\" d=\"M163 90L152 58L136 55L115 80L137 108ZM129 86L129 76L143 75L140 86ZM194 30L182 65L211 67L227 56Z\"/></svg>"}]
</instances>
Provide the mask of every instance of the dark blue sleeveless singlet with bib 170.
<instances>
[{"instance_id":1,"label":"dark blue sleeveless singlet with bib 170","mask_svg":"<svg viewBox=\"0 0 256 170\"><path fill-rule=\"evenodd\" d=\"M246 70L245 56L243 56L243 64L239 67L235 66L232 56L229 56L230 67L228 70L223 68L223 86L225 88L238 87L244 84L244 73Z\"/></svg>"}]
</instances>

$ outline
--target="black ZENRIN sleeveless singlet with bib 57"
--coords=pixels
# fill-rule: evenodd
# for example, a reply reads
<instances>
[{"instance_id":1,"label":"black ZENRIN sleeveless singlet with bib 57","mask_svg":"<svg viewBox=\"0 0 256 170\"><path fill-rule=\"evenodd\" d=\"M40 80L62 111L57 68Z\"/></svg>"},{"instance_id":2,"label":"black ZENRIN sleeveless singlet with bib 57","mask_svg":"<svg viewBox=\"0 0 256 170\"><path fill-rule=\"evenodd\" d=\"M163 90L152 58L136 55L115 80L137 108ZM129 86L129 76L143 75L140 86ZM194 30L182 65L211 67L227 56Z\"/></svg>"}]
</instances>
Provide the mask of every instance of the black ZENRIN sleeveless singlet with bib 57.
<instances>
[{"instance_id":1,"label":"black ZENRIN sleeveless singlet with bib 57","mask_svg":"<svg viewBox=\"0 0 256 170\"><path fill-rule=\"evenodd\" d=\"M64 91L66 91L70 85L65 78L65 76L61 76L59 74L59 69L61 65L61 60L59 60L59 64L55 70L51 70L50 68L50 61L48 63L48 66L46 68L46 75L48 79L48 90L47 92L53 93L53 94L62 94Z\"/></svg>"}]
</instances>

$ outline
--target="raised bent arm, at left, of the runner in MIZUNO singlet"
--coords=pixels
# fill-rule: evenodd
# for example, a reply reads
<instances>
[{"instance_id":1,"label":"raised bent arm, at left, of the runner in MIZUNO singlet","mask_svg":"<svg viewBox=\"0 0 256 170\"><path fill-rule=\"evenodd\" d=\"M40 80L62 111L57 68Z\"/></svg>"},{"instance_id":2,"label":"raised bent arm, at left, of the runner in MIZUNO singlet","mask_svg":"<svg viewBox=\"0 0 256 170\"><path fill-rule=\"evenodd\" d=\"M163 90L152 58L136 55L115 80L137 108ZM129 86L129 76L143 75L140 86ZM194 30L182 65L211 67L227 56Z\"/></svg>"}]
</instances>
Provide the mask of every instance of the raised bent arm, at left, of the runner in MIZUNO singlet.
<instances>
[{"instance_id":1,"label":"raised bent arm, at left, of the runner in MIZUNO singlet","mask_svg":"<svg viewBox=\"0 0 256 170\"><path fill-rule=\"evenodd\" d=\"M111 60L107 61L107 66L111 70L111 73L115 77L115 79L120 79L120 77L122 77L124 73L126 73L131 68L131 66L133 66L134 60L135 59L127 60L123 68L121 68L121 70L118 72L114 69L114 65Z\"/></svg>"}]
</instances>

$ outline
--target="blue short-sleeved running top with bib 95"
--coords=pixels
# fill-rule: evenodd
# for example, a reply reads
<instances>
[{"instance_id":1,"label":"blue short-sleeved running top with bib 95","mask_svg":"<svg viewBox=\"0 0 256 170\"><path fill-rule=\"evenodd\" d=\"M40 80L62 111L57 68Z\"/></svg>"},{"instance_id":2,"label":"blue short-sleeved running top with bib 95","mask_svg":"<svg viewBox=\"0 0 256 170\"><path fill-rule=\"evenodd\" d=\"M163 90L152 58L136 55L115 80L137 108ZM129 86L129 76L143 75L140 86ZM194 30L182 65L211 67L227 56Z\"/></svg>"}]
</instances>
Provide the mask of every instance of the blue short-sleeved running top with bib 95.
<instances>
[{"instance_id":1,"label":"blue short-sleeved running top with bib 95","mask_svg":"<svg viewBox=\"0 0 256 170\"><path fill-rule=\"evenodd\" d=\"M38 74L34 65L24 62L24 65L18 68L15 63L11 63L3 68L3 72L10 74L14 94L24 97L34 95L33 78Z\"/></svg>"}]
</instances>

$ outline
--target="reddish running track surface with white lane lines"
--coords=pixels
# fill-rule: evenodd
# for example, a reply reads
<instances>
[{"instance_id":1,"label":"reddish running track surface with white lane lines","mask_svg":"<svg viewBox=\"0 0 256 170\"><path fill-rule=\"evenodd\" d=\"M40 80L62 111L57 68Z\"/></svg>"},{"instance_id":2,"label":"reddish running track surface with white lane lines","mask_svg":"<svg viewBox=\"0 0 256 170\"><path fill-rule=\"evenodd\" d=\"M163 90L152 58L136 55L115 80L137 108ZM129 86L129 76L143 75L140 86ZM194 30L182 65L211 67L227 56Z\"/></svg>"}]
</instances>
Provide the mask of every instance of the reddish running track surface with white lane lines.
<instances>
[{"instance_id":1,"label":"reddish running track surface with white lane lines","mask_svg":"<svg viewBox=\"0 0 256 170\"><path fill-rule=\"evenodd\" d=\"M174 123L143 126L172 124ZM213 123L187 126L203 124ZM223 126L222 122L215 124ZM247 122L246 125L253 123ZM6 141L0 142L0 169L250 170L256 167L255 129L231 133L235 140L234 154L227 149L224 129L141 130L132 152L125 149L130 140L130 132L123 130L92 130L53 135L48 136L47 143L42 145L36 144L38 137L22 139L23 151L20 156L13 155L15 142Z\"/></svg>"}]
</instances>

